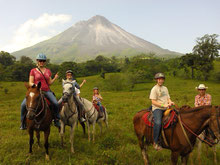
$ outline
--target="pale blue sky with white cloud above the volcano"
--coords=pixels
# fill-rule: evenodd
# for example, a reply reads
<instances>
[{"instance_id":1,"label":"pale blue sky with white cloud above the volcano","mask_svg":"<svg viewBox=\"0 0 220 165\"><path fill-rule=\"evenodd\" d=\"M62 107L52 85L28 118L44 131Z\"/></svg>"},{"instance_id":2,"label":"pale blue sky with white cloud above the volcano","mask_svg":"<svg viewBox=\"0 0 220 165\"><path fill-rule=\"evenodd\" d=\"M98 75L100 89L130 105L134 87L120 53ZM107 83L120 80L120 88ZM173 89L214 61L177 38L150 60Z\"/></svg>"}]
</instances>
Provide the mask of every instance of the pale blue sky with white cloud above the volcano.
<instances>
[{"instance_id":1,"label":"pale blue sky with white cloud above the volcano","mask_svg":"<svg viewBox=\"0 0 220 165\"><path fill-rule=\"evenodd\" d=\"M13 52L102 15L158 46L189 53L220 34L219 0L0 0L0 51Z\"/></svg>"}]
</instances>

